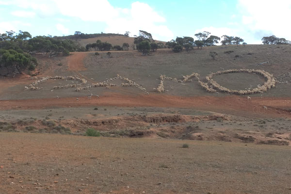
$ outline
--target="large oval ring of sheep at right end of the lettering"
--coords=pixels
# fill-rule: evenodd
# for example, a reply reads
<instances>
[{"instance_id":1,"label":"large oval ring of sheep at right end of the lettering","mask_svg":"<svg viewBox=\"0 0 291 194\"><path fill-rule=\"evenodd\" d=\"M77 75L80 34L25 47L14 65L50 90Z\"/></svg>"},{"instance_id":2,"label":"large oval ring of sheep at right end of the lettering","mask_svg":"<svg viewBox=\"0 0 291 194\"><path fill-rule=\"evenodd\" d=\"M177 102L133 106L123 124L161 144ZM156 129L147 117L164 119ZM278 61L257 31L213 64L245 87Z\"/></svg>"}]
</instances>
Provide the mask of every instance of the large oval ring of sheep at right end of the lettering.
<instances>
[{"instance_id":1,"label":"large oval ring of sheep at right end of the lettering","mask_svg":"<svg viewBox=\"0 0 291 194\"><path fill-rule=\"evenodd\" d=\"M221 86L216 81L213 81L213 76L221 75L221 74L229 74L229 73L255 73L259 74L261 76L264 76L267 81L264 82L262 86L259 86L257 88L254 88L252 90L230 90L226 87ZM251 95L255 93L263 93L267 92L267 89L271 89L275 87L275 78L272 74L266 72L265 70L254 70L254 69L229 69L224 71L217 71L215 73L210 73L206 76L206 80L208 81L208 84L210 85L209 89L216 89L220 92L225 92L228 94L236 94L236 95ZM211 90L213 91L213 90Z\"/></svg>"}]
</instances>

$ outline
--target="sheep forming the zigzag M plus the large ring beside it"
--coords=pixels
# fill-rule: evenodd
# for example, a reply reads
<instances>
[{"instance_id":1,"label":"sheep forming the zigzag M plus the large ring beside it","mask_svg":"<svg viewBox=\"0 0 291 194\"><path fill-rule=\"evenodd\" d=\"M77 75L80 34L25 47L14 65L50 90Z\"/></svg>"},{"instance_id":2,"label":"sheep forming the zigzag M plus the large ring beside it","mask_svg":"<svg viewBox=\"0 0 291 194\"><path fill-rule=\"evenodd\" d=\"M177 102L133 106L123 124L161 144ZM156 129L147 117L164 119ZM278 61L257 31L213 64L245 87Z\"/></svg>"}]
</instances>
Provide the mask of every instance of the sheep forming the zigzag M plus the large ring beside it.
<instances>
[{"instance_id":1,"label":"sheep forming the zigzag M plus the large ring beside it","mask_svg":"<svg viewBox=\"0 0 291 194\"><path fill-rule=\"evenodd\" d=\"M254 74L259 74L259 75L264 76L267 81L264 82L264 85L262 85L262 86L259 85L257 88L254 88L252 90L250 90L250 89L248 89L248 90L230 90L230 89L228 89L226 87L221 86L220 84L218 84L216 81L213 81L213 79L212 79L216 75L230 74L230 73L254 73ZM275 83L276 83L275 78L273 77L273 75L268 73L268 72L266 72L265 70L229 69L229 70L224 70L224 71L217 71L216 73L210 73L209 75L206 76L206 80L208 82L200 81L200 75L198 73L192 73L191 75L183 76L182 80L178 80L177 78L170 78L170 77L166 77L165 75L161 75L160 76L160 84L158 85L157 89L153 88L153 91L154 92L158 92L158 93L163 93L163 92L166 91L164 89L164 86L163 86L164 79L182 83L182 82L191 82L191 81L193 81L190 78L195 78L198 81L198 84L203 89L205 89L207 92L215 93L216 90L218 90L220 92L225 92L225 93L228 93L228 94L236 94L236 95L250 95L250 94L255 94L255 93L267 92L267 89L271 89L272 87L275 87ZM171 89L173 89L173 88L171 87Z\"/></svg>"}]
</instances>

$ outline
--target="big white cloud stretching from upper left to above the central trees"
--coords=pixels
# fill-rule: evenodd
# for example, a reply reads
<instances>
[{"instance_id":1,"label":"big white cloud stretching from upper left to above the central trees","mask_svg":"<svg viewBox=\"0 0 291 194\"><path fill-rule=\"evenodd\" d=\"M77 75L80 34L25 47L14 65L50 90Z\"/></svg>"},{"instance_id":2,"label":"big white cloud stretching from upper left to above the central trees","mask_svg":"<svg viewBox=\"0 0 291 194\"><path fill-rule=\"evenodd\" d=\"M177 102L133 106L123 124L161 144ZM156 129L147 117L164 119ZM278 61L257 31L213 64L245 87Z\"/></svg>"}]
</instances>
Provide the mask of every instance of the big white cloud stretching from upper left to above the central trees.
<instances>
[{"instance_id":1,"label":"big white cloud stretching from upper left to above the central trees","mask_svg":"<svg viewBox=\"0 0 291 194\"><path fill-rule=\"evenodd\" d=\"M171 39L173 32L164 24L166 19L146 3L133 2L130 8L115 8L108 0L10 0L2 2L14 5L24 10L14 11L16 16L33 16L36 13L41 17L57 16L80 18L83 21L104 22L107 26L105 32L138 35L139 30L152 33L155 39ZM33 12L28 12L30 9ZM145 17L146 16L146 19ZM60 18L58 16L58 18ZM62 22L57 18L57 21ZM69 31L63 25L57 24L57 29L65 34Z\"/></svg>"}]
</instances>

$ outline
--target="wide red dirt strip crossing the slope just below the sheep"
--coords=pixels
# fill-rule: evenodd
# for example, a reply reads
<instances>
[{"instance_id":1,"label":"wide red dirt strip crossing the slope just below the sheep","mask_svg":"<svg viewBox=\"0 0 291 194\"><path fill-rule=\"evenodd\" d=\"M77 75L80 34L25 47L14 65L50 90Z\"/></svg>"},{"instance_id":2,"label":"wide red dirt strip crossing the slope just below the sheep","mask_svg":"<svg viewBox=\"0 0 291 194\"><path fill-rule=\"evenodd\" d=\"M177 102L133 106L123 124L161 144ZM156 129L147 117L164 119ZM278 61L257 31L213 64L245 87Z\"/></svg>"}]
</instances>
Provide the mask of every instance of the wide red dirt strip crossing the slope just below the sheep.
<instances>
[{"instance_id":1,"label":"wide red dirt strip crossing the slope just below the sheep","mask_svg":"<svg viewBox=\"0 0 291 194\"><path fill-rule=\"evenodd\" d=\"M118 106L118 107L176 107L193 108L217 113L227 113L240 116L274 116L291 117L291 99L252 97L177 97L168 95L125 96L107 93L100 98L75 97L1 100L1 109L43 109L47 107L78 107L78 106ZM263 106L268 107L264 109Z\"/></svg>"}]
</instances>

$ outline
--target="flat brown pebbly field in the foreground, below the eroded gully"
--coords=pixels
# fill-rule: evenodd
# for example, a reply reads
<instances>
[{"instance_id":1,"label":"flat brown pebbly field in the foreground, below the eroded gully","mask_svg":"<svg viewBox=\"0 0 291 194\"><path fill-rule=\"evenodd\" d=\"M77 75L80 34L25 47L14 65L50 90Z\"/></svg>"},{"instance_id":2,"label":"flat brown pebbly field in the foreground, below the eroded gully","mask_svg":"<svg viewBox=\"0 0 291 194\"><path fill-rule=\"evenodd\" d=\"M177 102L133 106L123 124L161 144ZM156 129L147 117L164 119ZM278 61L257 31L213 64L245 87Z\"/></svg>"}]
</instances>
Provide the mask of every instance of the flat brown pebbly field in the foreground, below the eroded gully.
<instances>
[{"instance_id":1,"label":"flat brown pebbly field in the foreground, below the eroded gully","mask_svg":"<svg viewBox=\"0 0 291 194\"><path fill-rule=\"evenodd\" d=\"M0 151L1 194L291 191L285 146L1 133Z\"/></svg>"}]
</instances>

